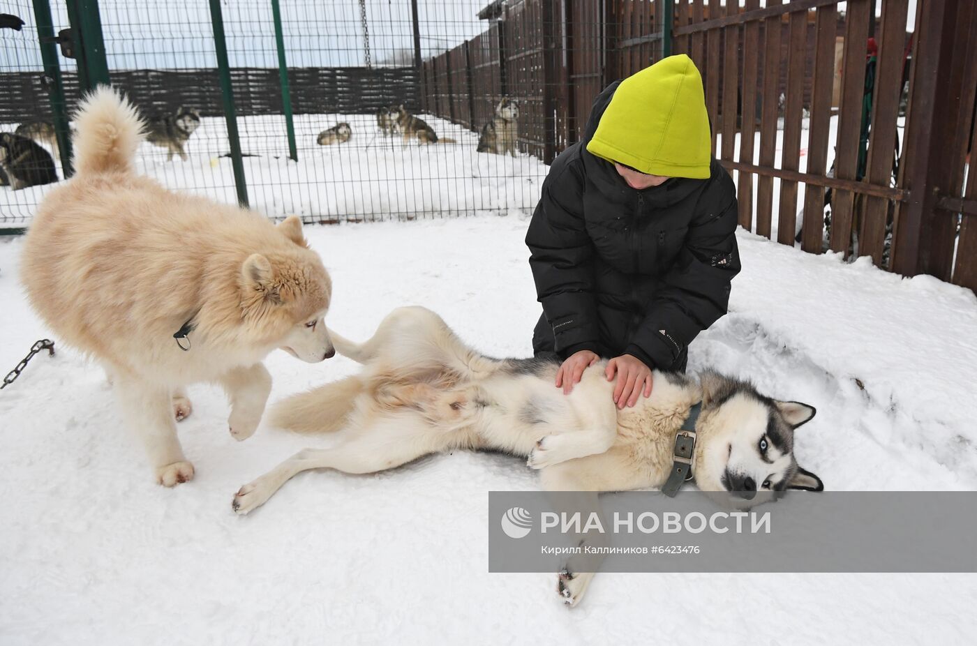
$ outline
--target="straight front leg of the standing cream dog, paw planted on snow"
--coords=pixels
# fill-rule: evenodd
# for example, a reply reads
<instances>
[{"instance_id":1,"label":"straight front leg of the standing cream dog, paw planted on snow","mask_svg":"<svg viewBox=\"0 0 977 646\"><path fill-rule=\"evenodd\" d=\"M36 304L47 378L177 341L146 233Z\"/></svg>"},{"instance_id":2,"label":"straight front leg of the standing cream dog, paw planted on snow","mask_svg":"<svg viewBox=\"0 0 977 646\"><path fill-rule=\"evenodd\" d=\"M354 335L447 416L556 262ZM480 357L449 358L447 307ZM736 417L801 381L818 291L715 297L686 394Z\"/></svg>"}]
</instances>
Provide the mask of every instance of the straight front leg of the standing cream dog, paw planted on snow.
<instances>
[{"instance_id":1,"label":"straight front leg of the standing cream dog, paw planted on snow","mask_svg":"<svg viewBox=\"0 0 977 646\"><path fill-rule=\"evenodd\" d=\"M193 465L187 461L173 418L172 391L130 375L113 375L112 387L126 422L143 439L156 482L173 487L193 479Z\"/></svg>"}]
</instances>

